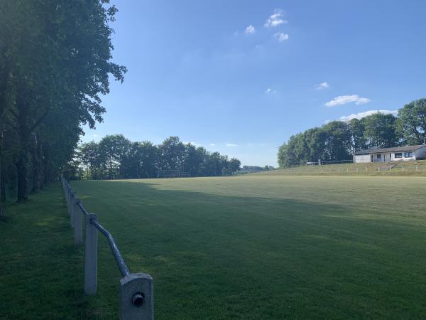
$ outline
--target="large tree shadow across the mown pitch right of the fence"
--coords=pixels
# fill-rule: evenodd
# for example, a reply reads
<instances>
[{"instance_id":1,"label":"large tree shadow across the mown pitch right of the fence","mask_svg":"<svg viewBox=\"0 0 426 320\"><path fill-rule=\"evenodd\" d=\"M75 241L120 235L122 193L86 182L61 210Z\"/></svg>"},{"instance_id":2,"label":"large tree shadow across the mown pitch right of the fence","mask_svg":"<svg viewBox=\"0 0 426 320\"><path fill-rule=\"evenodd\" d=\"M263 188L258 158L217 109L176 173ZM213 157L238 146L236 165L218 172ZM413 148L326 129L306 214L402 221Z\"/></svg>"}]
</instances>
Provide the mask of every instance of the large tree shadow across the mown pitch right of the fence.
<instances>
[{"instance_id":1,"label":"large tree shadow across the mown pitch right of the fence","mask_svg":"<svg viewBox=\"0 0 426 320\"><path fill-rule=\"evenodd\" d=\"M157 319L391 319L426 311L424 220L152 181L75 185L131 270L153 275ZM107 242L99 243L99 302L114 306L119 275Z\"/></svg>"}]
</instances>

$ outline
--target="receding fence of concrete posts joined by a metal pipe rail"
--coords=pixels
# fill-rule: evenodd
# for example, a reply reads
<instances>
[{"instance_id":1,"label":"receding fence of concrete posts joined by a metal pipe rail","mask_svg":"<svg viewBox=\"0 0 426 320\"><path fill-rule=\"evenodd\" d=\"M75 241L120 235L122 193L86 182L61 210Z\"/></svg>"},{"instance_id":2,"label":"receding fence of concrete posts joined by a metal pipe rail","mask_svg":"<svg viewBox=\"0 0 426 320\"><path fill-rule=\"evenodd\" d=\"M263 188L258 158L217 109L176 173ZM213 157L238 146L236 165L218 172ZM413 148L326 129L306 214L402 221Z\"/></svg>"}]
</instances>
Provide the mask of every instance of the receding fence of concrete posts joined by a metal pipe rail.
<instances>
[{"instance_id":1,"label":"receding fence of concrete posts joined by a metal pipe rail","mask_svg":"<svg viewBox=\"0 0 426 320\"><path fill-rule=\"evenodd\" d=\"M153 320L153 278L146 273L131 273L111 233L102 227L95 213L89 213L84 209L81 199L77 198L74 191L72 191L70 183L63 177L62 187L65 193L71 226L74 230L75 245L83 244L83 226L85 228L84 293L94 295L97 292L97 242L99 231L107 238L112 255L114 255L122 276L119 289L120 319Z\"/></svg>"}]
</instances>

